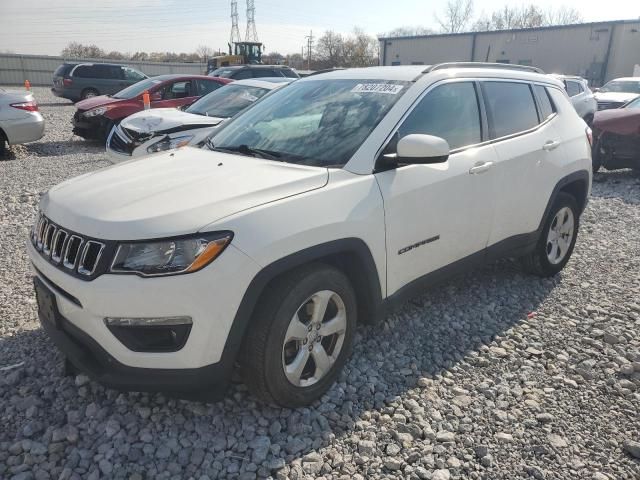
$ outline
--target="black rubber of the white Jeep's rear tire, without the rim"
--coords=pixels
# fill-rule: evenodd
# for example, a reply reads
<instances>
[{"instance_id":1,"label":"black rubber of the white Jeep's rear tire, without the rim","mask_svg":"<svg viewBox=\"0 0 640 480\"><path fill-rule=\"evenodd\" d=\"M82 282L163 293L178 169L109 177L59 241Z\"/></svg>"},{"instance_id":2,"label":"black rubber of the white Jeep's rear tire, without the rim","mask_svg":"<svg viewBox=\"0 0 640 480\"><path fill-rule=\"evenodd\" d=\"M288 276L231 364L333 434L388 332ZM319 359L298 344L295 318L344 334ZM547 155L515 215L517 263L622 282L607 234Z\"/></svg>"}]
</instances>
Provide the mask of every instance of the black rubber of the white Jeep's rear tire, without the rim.
<instances>
[{"instance_id":1,"label":"black rubber of the white Jeep's rear tire, without the rim","mask_svg":"<svg viewBox=\"0 0 640 480\"><path fill-rule=\"evenodd\" d=\"M571 209L573 213L573 219L574 219L573 237L571 239L569 248L564 258L562 259L562 261L554 264L549 260L549 257L547 255L547 246L548 246L547 238L549 235L549 230L551 229L551 226L555 220L556 215L561 209L565 207ZM555 202L553 203L551 210L549 211L549 215L545 220L544 227L540 234L540 239L538 240L538 243L536 244L534 251L528 255L525 255L520 259L523 269L528 273L532 273L540 277L553 277L554 275L557 275L565 267L565 265L571 258L571 254L573 253L573 248L575 247L576 240L578 238L578 230L580 226L579 223L580 223L580 217L579 217L579 210L578 210L578 204L576 203L576 199L572 195L569 195L568 193L564 193L564 192L558 193L558 196Z\"/></svg>"}]
</instances>

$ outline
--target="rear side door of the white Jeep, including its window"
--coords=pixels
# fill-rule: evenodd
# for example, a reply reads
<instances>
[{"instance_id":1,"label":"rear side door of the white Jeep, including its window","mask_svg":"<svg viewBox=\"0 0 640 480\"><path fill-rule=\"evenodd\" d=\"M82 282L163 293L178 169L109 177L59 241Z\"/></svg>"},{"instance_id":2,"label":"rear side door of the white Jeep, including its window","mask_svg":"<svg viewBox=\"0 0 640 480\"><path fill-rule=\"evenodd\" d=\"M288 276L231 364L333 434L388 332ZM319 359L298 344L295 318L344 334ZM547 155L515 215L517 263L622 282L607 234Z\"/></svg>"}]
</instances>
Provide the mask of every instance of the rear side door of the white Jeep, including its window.
<instances>
[{"instance_id":1,"label":"rear side door of the white Jeep, including its window","mask_svg":"<svg viewBox=\"0 0 640 480\"><path fill-rule=\"evenodd\" d=\"M538 229L554 186L548 178L549 167L563 155L563 139L560 118L545 87L486 80L482 93L497 153L499 189L489 239L493 245Z\"/></svg>"}]
</instances>

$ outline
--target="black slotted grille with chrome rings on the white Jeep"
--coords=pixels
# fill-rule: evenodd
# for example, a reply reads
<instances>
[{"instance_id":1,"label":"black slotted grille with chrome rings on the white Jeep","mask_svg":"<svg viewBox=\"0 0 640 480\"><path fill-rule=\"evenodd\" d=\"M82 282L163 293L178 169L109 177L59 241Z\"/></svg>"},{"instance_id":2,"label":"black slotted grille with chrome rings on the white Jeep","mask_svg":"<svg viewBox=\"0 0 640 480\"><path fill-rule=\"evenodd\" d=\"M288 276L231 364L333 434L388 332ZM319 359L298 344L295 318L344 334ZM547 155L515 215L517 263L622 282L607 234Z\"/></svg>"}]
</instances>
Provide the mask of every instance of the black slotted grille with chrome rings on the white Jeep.
<instances>
[{"instance_id":1,"label":"black slotted grille with chrome rings on the white Jeep","mask_svg":"<svg viewBox=\"0 0 640 480\"><path fill-rule=\"evenodd\" d=\"M105 244L86 239L39 215L31 231L31 243L50 262L73 273L90 277L96 271Z\"/></svg>"}]
</instances>

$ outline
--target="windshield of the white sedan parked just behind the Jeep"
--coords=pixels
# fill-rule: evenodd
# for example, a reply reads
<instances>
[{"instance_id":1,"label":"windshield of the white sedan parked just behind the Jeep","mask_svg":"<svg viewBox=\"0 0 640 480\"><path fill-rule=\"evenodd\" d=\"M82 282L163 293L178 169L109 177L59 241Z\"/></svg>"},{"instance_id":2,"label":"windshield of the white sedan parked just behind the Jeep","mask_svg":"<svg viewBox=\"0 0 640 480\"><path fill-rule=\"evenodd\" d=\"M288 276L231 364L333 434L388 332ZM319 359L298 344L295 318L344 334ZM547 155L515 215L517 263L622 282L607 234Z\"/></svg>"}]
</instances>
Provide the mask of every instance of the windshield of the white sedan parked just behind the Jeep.
<instances>
[{"instance_id":1,"label":"windshield of the white sedan parked just behind the Jeep","mask_svg":"<svg viewBox=\"0 0 640 480\"><path fill-rule=\"evenodd\" d=\"M187 113L207 115L208 117L229 118L244 110L253 102L268 93L269 90L248 85L227 85L191 105Z\"/></svg>"}]
</instances>

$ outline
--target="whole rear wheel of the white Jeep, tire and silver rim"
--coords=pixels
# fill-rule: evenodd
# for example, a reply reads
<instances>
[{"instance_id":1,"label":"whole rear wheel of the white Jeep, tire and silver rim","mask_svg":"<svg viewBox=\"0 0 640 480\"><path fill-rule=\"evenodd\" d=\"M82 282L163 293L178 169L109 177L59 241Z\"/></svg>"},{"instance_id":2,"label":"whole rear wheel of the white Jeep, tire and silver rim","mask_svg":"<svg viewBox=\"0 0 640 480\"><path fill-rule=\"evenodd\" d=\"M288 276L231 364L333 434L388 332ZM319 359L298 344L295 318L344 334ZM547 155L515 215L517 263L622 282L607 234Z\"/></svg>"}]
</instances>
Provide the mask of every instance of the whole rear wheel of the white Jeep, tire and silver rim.
<instances>
[{"instance_id":1,"label":"whole rear wheel of the white Jeep, tire and silver rim","mask_svg":"<svg viewBox=\"0 0 640 480\"><path fill-rule=\"evenodd\" d=\"M561 224L558 223L560 221ZM579 221L575 198L560 192L545 220L534 251L521 258L524 270L540 277L557 275L571 258L578 238Z\"/></svg>"}]
</instances>

